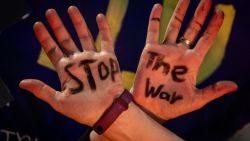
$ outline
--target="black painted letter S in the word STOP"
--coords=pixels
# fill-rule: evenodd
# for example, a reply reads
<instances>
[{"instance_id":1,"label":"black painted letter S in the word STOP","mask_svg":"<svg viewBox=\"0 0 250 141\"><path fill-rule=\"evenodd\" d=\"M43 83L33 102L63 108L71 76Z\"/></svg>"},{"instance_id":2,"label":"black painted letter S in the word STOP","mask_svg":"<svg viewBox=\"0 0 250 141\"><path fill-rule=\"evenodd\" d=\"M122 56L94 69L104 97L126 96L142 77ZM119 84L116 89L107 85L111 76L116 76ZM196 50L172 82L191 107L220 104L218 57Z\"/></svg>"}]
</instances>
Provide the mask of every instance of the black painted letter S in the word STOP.
<instances>
[{"instance_id":1,"label":"black painted letter S in the word STOP","mask_svg":"<svg viewBox=\"0 0 250 141\"><path fill-rule=\"evenodd\" d=\"M83 83L80 79L78 79L76 76L74 76L70 71L69 71L69 68L72 67L73 64L68 64L66 67L65 67L65 72L78 84L78 87L77 88L70 88L69 91L71 94L76 94L76 93L79 93L83 90L84 86L83 86ZM64 86L63 86L64 87Z\"/></svg>"}]
</instances>

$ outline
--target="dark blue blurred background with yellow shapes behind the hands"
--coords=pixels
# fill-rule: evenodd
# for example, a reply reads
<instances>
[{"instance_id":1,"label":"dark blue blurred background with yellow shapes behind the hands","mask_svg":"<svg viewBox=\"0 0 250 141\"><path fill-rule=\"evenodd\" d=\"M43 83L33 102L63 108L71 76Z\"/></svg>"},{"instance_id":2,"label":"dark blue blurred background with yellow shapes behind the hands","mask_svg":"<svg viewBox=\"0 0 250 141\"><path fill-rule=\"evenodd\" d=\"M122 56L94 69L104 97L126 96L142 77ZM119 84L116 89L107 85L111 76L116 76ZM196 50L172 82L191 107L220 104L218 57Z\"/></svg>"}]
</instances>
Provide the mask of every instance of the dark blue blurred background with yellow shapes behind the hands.
<instances>
[{"instance_id":1,"label":"dark blue blurred background with yellow shapes behind the hands","mask_svg":"<svg viewBox=\"0 0 250 141\"><path fill-rule=\"evenodd\" d=\"M36 78L60 90L56 72L36 40L32 27L36 21L42 21L51 32L44 16L48 8L58 11L79 48L80 42L67 15L67 8L75 5L83 13L97 48L99 35L95 17L100 12L105 13L115 39L116 54L124 84L129 89L140 53L145 45L152 6L155 3L164 6L161 20L161 37L163 37L177 2L177 0L1 0L0 141L76 141L88 128L55 112L48 104L18 87L22 79ZM184 32L199 2L200 0L190 2L179 36ZM250 1L247 0L213 0L213 8L207 21L215 9L224 11L225 21L200 68L197 85L202 88L225 79L235 81L239 89L198 111L164 123L166 128L185 140L250 140L249 5Z\"/></svg>"}]
</instances>

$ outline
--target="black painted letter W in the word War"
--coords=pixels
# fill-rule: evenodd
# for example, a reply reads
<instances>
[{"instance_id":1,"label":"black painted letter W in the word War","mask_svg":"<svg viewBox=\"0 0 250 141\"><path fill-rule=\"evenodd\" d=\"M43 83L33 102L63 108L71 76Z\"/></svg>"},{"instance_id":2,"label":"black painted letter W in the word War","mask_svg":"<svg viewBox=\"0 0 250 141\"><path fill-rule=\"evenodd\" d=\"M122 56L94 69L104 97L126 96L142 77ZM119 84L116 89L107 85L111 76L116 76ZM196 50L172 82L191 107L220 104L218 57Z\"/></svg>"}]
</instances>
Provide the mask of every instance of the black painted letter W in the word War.
<instances>
[{"instance_id":1,"label":"black painted letter W in the word War","mask_svg":"<svg viewBox=\"0 0 250 141\"><path fill-rule=\"evenodd\" d=\"M147 78L147 80L146 80L146 88L145 88L145 95L146 95L146 97L149 97L150 95L151 95L152 98L158 96L163 87L164 87L164 85L160 85L155 90L155 87L150 86L150 80L149 80L149 78Z\"/></svg>"}]
</instances>

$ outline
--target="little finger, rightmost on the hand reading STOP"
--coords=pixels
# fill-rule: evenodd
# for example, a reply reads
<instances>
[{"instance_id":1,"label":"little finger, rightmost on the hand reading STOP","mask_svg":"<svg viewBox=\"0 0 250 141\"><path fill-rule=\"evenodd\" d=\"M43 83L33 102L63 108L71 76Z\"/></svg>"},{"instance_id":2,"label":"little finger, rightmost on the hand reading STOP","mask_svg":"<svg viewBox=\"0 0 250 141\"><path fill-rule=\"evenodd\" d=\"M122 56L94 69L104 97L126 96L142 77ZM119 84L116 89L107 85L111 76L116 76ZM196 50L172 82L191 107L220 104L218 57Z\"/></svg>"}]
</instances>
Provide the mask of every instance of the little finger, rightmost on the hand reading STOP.
<instances>
[{"instance_id":1,"label":"little finger, rightmost on the hand reading STOP","mask_svg":"<svg viewBox=\"0 0 250 141\"><path fill-rule=\"evenodd\" d=\"M101 47L103 51L114 53L114 45L108 22L103 14L96 17L99 32L101 34Z\"/></svg>"}]
</instances>

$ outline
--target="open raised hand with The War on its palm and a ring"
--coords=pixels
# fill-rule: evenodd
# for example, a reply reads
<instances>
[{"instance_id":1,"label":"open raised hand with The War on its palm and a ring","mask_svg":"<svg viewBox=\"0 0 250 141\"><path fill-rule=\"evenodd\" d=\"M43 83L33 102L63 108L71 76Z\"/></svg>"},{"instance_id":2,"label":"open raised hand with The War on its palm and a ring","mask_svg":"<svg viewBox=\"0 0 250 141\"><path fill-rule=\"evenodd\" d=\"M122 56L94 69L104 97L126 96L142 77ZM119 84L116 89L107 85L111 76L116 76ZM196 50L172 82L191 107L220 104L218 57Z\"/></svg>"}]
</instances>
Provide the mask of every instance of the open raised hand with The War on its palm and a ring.
<instances>
[{"instance_id":1,"label":"open raised hand with The War on its palm and a ring","mask_svg":"<svg viewBox=\"0 0 250 141\"><path fill-rule=\"evenodd\" d=\"M157 120L166 121L192 112L237 89L231 81L196 88L199 67L223 23L224 15L222 11L216 11L197 44L190 49L190 43L199 34L209 12L211 0L201 0L182 41L176 43L188 5L189 0L179 1L162 44L158 42L161 5L156 4L150 15L146 45L131 91L136 103Z\"/></svg>"}]
</instances>

